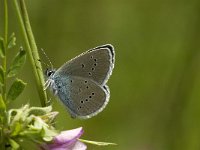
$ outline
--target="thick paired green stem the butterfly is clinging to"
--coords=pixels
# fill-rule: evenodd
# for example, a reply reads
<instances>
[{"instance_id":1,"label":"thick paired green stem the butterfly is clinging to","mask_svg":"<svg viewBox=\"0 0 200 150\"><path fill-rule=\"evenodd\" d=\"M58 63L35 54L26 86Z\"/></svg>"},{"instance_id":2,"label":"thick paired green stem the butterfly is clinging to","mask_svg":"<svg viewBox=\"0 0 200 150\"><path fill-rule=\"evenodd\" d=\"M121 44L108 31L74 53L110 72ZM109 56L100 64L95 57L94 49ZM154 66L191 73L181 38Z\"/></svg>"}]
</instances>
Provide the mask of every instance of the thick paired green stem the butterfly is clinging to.
<instances>
[{"instance_id":1,"label":"thick paired green stem the butterfly is clinging to","mask_svg":"<svg viewBox=\"0 0 200 150\"><path fill-rule=\"evenodd\" d=\"M40 96L40 102L42 107L47 106L48 100L47 100L47 94L46 91L43 90L43 85L44 85L44 76L43 76L43 71L42 71L42 65L39 60L39 54L37 50L37 46L34 40L34 36L31 30L29 18L28 18L28 13L26 10L26 5L23 0L20 1L20 6L21 6L21 12L20 12L20 7L17 3L17 0L13 0L18 21L22 30L22 35L25 41L25 47L28 51L29 58L33 67L34 75L36 78L36 85L37 85L37 90ZM22 17L23 16L23 17Z\"/></svg>"}]
</instances>

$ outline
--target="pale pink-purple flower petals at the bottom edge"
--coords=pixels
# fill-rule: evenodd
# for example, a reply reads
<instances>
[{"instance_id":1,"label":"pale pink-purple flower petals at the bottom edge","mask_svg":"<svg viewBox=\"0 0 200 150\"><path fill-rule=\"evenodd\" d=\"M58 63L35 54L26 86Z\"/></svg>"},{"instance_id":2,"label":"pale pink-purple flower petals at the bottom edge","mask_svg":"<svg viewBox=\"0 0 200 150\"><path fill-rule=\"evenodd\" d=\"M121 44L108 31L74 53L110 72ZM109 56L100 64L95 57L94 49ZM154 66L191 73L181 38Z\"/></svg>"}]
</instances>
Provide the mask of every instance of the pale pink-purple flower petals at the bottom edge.
<instances>
[{"instance_id":1,"label":"pale pink-purple flower petals at the bottom edge","mask_svg":"<svg viewBox=\"0 0 200 150\"><path fill-rule=\"evenodd\" d=\"M87 146L78 140L82 134L82 127L62 131L53 138L51 143L43 144L42 148L45 150L86 150Z\"/></svg>"}]
</instances>

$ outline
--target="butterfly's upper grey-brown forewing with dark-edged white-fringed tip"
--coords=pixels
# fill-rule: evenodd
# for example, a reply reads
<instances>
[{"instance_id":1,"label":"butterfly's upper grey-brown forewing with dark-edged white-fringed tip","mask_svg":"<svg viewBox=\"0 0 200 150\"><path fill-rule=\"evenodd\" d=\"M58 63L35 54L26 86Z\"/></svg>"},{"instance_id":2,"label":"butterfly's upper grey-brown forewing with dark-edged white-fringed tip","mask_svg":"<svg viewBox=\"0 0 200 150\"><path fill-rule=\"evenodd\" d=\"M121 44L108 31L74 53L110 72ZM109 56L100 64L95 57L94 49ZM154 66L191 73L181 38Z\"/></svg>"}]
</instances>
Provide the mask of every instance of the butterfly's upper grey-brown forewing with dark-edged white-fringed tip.
<instances>
[{"instance_id":1,"label":"butterfly's upper grey-brown forewing with dark-edged white-fringed tip","mask_svg":"<svg viewBox=\"0 0 200 150\"><path fill-rule=\"evenodd\" d=\"M66 62L56 73L87 78L104 85L112 73L114 60L113 46L103 45Z\"/></svg>"}]
</instances>

